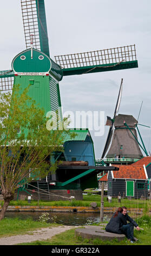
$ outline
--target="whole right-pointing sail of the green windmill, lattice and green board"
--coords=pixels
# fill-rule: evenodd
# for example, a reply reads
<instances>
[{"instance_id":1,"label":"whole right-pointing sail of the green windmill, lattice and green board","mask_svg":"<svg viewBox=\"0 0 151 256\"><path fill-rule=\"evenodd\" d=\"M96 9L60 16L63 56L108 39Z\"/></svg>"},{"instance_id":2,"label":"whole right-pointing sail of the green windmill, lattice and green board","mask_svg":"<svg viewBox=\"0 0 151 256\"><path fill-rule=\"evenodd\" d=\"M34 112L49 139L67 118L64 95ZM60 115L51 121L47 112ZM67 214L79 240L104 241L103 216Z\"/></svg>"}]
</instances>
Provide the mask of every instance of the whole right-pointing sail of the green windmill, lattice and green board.
<instances>
[{"instance_id":1,"label":"whole right-pointing sail of the green windmill, lattice and green board","mask_svg":"<svg viewBox=\"0 0 151 256\"><path fill-rule=\"evenodd\" d=\"M135 45L55 56L64 76L137 68Z\"/></svg>"}]
</instances>

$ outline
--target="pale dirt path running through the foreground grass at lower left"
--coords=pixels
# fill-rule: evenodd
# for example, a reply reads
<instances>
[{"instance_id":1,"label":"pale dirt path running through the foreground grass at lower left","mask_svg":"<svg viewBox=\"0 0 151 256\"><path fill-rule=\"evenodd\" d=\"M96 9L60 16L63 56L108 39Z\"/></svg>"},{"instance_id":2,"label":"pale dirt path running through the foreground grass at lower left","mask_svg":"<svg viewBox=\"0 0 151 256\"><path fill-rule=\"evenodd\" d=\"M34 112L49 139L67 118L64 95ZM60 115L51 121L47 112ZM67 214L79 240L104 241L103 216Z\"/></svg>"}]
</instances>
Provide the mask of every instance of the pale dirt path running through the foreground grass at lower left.
<instances>
[{"instance_id":1,"label":"pale dirt path running through the foreground grass at lower left","mask_svg":"<svg viewBox=\"0 0 151 256\"><path fill-rule=\"evenodd\" d=\"M42 228L37 229L35 231L29 231L26 235L15 235L15 236L7 236L0 238L0 245L16 245L17 243L23 242L32 242L36 240L46 240L50 239L52 236L62 233L71 228L75 228L75 226L59 226L52 228Z\"/></svg>"}]
</instances>

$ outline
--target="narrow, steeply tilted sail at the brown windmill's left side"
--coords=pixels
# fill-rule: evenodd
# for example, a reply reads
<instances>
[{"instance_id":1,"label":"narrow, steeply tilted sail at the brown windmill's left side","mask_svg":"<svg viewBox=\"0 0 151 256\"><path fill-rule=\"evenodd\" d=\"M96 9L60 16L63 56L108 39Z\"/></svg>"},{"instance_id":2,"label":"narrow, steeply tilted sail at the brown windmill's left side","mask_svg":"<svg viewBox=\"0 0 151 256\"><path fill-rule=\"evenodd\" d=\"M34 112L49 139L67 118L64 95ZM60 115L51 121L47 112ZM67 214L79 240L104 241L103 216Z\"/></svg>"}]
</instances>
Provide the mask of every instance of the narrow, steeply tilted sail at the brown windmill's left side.
<instances>
[{"instance_id":1,"label":"narrow, steeply tilted sail at the brown windmill's left side","mask_svg":"<svg viewBox=\"0 0 151 256\"><path fill-rule=\"evenodd\" d=\"M107 150L109 148L109 145L111 144L113 135L114 135L114 119L117 115L117 112L119 111L120 108L120 103L121 103L121 97L122 97L122 84L123 84L123 78L121 80L121 86L120 86L120 90L119 90L119 95L117 97L117 102L116 102L116 106L115 106L115 111L114 111L114 117L113 119L111 119L110 117L107 117L107 123L106 125L110 126L109 132L108 132L108 137L107 137L107 141L103 150L103 154L102 154L102 159L104 158L104 156L107 153Z\"/></svg>"}]
</instances>

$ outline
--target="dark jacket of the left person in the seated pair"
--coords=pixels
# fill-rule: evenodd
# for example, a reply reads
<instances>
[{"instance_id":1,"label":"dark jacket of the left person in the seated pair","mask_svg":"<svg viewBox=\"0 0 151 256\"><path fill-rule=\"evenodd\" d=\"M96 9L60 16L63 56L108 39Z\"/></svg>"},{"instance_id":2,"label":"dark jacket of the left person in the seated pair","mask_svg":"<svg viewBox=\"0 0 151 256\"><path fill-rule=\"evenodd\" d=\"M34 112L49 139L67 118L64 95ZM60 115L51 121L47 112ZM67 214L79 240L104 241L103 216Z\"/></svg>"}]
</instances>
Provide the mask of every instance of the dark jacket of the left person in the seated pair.
<instances>
[{"instance_id":1,"label":"dark jacket of the left person in the seated pair","mask_svg":"<svg viewBox=\"0 0 151 256\"><path fill-rule=\"evenodd\" d=\"M107 232L110 232L110 233L122 234L122 231L120 230L120 228L123 225L122 214L121 212L119 212L119 214L116 217L114 217L114 215L111 217L105 229Z\"/></svg>"}]
</instances>

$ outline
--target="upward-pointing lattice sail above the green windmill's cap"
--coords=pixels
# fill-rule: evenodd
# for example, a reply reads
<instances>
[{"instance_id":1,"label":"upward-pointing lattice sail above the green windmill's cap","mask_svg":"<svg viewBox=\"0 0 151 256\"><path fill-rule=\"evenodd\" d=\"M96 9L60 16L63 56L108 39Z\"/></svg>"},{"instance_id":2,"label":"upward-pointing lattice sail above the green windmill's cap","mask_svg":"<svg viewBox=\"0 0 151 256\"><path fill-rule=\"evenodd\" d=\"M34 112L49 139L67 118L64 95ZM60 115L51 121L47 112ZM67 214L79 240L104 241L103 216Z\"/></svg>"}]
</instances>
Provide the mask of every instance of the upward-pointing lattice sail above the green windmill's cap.
<instances>
[{"instance_id":1,"label":"upward-pointing lattice sail above the green windmill's cap","mask_svg":"<svg viewBox=\"0 0 151 256\"><path fill-rule=\"evenodd\" d=\"M30 35L34 35L33 47L50 56L47 22L45 17L44 0L21 0L25 44L30 45Z\"/></svg>"}]
</instances>

